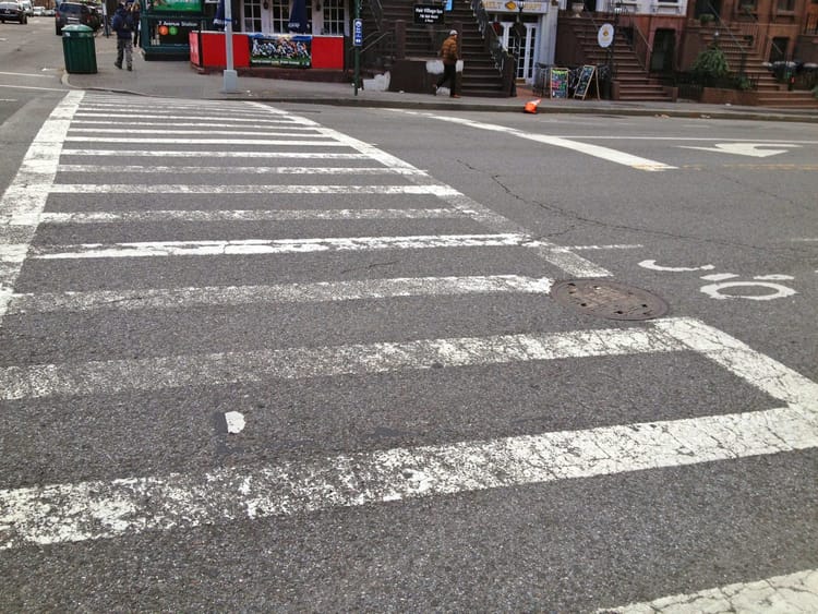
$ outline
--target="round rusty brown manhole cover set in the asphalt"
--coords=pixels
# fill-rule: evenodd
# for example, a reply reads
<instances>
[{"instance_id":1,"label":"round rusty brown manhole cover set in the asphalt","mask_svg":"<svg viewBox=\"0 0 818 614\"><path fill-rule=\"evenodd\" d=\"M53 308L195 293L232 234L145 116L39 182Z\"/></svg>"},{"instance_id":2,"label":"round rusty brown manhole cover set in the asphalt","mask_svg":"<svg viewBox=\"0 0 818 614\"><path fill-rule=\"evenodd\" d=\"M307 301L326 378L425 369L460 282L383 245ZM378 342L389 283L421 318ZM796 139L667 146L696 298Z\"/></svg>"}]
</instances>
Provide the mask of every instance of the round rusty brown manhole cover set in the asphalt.
<instances>
[{"instance_id":1,"label":"round rusty brown manhole cover set in the asphalt","mask_svg":"<svg viewBox=\"0 0 818 614\"><path fill-rule=\"evenodd\" d=\"M551 297L582 313L609 320L650 320L667 313L667 303L640 288L606 279L572 279L551 288Z\"/></svg>"}]
</instances>

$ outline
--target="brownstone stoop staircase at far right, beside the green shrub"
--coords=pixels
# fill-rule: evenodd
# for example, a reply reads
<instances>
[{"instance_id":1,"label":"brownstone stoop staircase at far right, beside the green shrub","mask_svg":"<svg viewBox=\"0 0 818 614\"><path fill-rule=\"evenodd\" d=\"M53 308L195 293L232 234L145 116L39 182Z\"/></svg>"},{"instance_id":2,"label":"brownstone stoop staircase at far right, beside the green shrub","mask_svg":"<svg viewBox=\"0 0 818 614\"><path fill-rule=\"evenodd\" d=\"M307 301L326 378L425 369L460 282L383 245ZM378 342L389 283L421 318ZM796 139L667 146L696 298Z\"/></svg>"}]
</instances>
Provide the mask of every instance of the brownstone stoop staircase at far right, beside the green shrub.
<instances>
[{"instance_id":1,"label":"brownstone stoop staircase at far right, beside the green shrub","mask_svg":"<svg viewBox=\"0 0 818 614\"><path fill-rule=\"evenodd\" d=\"M719 33L719 47L724 51L731 72L741 70L742 53L745 53L744 72L758 84L755 96L756 105L786 109L818 109L818 98L811 92L789 92L786 84L775 81L765 65L763 58L737 28L731 28L724 23L718 28L700 27L699 37L705 47L713 44L717 32Z\"/></svg>"}]
</instances>

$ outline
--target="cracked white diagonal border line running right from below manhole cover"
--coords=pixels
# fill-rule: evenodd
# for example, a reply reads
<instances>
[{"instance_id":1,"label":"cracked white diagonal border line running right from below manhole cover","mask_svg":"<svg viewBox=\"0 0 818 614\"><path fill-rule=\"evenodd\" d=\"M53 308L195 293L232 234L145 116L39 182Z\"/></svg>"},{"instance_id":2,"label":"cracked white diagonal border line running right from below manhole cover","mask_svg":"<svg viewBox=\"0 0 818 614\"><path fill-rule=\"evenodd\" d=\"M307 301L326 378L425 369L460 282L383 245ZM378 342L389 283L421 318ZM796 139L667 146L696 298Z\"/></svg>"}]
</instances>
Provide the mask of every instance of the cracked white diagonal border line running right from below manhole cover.
<instances>
[{"instance_id":1,"label":"cracked white diagonal border line running right from below manhole cover","mask_svg":"<svg viewBox=\"0 0 818 614\"><path fill-rule=\"evenodd\" d=\"M726 333L690 317L657 320L653 326L771 397L818 412L818 384Z\"/></svg>"}]
</instances>

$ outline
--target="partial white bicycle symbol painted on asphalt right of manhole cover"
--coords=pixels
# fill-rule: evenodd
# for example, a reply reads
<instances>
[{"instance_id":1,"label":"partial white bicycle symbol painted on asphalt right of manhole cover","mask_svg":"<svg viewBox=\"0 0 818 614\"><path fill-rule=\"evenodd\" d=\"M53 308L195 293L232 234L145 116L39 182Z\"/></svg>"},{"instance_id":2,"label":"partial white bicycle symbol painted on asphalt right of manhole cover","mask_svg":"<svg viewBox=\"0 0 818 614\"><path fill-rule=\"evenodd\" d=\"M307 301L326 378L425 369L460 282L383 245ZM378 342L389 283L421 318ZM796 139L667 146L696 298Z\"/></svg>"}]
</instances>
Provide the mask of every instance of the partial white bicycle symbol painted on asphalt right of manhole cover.
<instances>
[{"instance_id":1,"label":"partial white bicycle symbol painted on asphalt right of manhole cover","mask_svg":"<svg viewBox=\"0 0 818 614\"><path fill-rule=\"evenodd\" d=\"M712 270L715 267L712 264L701 266L661 266L654 260L645 260L639 266L650 270L662 270L667 273L690 273ZM795 278L791 275L756 275L750 279L741 279L739 275L734 273L714 273L702 275L700 279L711 281L699 288L711 299L746 299L749 301L772 301L797 294L797 291L780 284L780 281L793 281Z\"/></svg>"}]
</instances>

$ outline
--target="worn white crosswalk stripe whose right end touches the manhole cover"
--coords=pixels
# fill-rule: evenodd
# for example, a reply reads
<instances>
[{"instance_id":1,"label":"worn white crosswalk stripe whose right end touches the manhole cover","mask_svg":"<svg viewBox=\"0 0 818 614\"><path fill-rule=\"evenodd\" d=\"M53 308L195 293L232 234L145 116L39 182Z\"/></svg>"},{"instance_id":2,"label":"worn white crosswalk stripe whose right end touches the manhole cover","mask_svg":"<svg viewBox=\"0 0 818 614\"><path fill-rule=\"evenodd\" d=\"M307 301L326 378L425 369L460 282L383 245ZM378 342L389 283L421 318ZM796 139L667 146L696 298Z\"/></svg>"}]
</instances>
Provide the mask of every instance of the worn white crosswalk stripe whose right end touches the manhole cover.
<instances>
[{"instance_id":1,"label":"worn white crosswalk stripe whose right end touches the manhole cover","mask_svg":"<svg viewBox=\"0 0 818 614\"><path fill-rule=\"evenodd\" d=\"M185 309L252 303L304 303L443 297L457 294L540 293L551 291L551 279L519 275L472 277L396 277L353 281L317 281L275 286L210 286L146 288L89 292L12 294L9 315L50 311Z\"/></svg>"}]
</instances>

